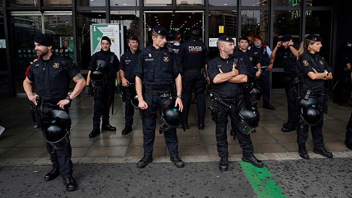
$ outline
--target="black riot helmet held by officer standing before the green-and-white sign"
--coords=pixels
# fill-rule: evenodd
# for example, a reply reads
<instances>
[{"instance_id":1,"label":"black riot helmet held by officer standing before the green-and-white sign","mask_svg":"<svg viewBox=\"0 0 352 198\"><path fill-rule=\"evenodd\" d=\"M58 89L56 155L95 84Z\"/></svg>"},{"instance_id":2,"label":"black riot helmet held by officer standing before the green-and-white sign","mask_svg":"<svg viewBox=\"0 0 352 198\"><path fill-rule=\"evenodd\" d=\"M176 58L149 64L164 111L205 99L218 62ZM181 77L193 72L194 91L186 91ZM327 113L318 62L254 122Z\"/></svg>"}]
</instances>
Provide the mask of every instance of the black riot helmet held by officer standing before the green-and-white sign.
<instances>
[{"instance_id":1,"label":"black riot helmet held by officer standing before the green-and-white sign","mask_svg":"<svg viewBox=\"0 0 352 198\"><path fill-rule=\"evenodd\" d=\"M89 78L93 87L100 88L106 84L106 68L107 64L103 60L95 61L95 68L90 72Z\"/></svg>"}]
</instances>

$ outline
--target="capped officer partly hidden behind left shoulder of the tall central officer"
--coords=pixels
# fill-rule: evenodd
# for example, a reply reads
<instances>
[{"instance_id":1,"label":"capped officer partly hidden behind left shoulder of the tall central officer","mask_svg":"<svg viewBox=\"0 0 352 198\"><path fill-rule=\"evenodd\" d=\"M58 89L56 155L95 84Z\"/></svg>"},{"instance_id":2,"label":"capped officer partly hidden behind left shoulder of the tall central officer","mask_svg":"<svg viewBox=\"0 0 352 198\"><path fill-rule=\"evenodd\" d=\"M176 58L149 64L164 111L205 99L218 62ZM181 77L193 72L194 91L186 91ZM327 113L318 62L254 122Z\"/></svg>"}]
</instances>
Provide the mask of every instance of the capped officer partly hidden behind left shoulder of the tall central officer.
<instances>
[{"instance_id":1,"label":"capped officer partly hidden behind left shoulder of the tall central officer","mask_svg":"<svg viewBox=\"0 0 352 198\"><path fill-rule=\"evenodd\" d=\"M142 51L138 49L139 39L132 36L129 40L130 49L121 56L120 75L122 86L125 92L125 128L122 135L127 135L132 131L134 106L131 103L131 97L135 94L135 75L133 71L137 64L138 54Z\"/></svg>"}]
</instances>

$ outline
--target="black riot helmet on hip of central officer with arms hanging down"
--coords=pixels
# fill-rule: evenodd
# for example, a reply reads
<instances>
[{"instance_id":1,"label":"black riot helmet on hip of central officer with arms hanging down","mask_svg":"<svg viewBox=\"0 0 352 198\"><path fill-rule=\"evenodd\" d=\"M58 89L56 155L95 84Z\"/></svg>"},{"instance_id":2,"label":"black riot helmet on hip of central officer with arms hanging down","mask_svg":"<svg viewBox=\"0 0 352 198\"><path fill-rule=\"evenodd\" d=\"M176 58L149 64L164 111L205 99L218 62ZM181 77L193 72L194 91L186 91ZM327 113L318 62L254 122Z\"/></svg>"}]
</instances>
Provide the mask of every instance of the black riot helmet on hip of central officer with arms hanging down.
<instances>
[{"instance_id":1,"label":"black riot helmet on hip of central officer with arms hanging down","mask_svg":"<svg viewBox=\"0 0 352 198\"><path fill-rule=\"evenodd\" d=\"M178 110L178 105L175 107L175 102L173 102L172 99L163 99L159 107L161 109L160 118L166 126L176 128L181 124L181 112Z\"/></svg>"}]
</instances>

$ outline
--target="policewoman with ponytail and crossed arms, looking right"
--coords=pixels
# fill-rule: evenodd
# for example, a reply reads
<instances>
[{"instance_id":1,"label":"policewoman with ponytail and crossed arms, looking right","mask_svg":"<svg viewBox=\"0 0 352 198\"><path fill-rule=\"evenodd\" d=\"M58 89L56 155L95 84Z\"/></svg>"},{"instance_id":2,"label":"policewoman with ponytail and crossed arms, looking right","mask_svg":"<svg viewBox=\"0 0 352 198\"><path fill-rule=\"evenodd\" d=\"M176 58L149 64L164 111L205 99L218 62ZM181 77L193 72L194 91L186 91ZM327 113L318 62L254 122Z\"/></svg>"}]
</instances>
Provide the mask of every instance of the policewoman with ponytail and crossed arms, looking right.
<instances>
[{"instance_id":1,"label":"policewoman with ponytail and crossed arms, looking right","mask_svg":"<svg viewBox=\"0 0 352 198\"><path fill-rule=\"evenodd\" d=\"M333 154L324 148L323 127L323 109L324 109L324 81L332 79L331 68L327 65L324 58L319 56L322 38L310 34L305 41L301 43L298 53L298 69L302 79L301 102L309 97L316 97L319 100L320 119L314 126L310 126L314 149L313 152L324 157L331 158ZM292 47L291 47L292 48ZM297 134L297 144L299 154L302 158L308 159L309 155L306 149L306 141L308 139L309 125L301 122Z\"/></svg>"}]
</instances>

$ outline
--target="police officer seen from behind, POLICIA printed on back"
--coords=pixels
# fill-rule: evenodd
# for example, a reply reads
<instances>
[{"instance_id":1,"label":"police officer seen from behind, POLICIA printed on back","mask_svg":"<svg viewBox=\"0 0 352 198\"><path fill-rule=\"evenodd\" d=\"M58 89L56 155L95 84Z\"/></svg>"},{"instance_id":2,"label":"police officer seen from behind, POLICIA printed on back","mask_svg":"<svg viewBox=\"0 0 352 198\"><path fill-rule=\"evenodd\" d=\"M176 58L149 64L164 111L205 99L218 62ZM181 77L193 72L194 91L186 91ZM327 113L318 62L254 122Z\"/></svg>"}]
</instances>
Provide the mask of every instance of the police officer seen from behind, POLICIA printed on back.
<instances>
[{"instance_id":1,"label":"police officer seen from behind, POLICIA printed on back","mask_svg":"<svg viewBox=\"0 0 352 198\"><path fill-rule=\"evenodd\" d=\"M201 28L194 25L190 29L190 39L181 45L178 53L179 61L183 69L182 77L182 122L186 129L188 126L189 107L191 105L192 89L197 100L198 129L204 129L205 118L205 76L206 64L209 61L207 47L199 41ZM181 128L181 126L177 127Z\"/></svg>"}]
</instances>

